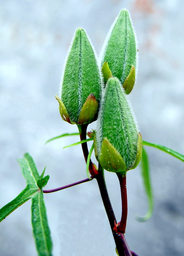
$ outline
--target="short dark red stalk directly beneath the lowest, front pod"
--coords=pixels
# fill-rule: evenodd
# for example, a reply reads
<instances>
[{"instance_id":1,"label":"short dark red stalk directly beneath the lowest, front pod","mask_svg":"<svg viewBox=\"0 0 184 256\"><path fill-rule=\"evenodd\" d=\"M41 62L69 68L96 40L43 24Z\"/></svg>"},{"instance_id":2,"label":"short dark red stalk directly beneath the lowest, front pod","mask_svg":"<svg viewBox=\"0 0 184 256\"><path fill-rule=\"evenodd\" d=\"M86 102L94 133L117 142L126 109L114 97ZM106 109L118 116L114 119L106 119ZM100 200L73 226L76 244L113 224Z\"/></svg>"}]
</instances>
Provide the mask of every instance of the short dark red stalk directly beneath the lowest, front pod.
<instances>
[{"instance_id":1,"label":"short dark red stalk directly beneath the lowest, front pod","mask_svg":"<svg viewBox=\"0 0 184 256\"><path fill-rule=\"evenodd\" d=\"M127 189L126 189L126 173L118 174L118 179L121 188L121 201L122 201L122 215L121 221L118 223L117 230L118 232L124 234L126 229L127 221Z\"/></svg>"}]
</instances>

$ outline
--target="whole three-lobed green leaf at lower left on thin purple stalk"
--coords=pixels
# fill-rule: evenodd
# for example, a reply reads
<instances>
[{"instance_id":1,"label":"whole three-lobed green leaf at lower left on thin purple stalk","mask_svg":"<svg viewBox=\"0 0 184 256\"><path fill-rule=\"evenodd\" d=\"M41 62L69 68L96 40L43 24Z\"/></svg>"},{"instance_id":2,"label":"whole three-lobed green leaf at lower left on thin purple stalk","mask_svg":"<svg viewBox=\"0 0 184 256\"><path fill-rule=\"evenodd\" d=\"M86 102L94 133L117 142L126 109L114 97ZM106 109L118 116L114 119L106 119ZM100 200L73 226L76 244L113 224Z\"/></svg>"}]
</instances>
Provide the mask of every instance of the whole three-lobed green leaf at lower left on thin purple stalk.
<instances>
[{"instance_id":1,"label":"whole three-lobed green leaf at lower left on thin purple stalk","mask_svg":"<svg viewBox=\"0 0 184 256\"><path fill-rule=\"evenodd\" d=\"M52 241L43 200L43 191L37 186L38 180L40 180L41 187L45 186L49 175L40 179L36 165L28 153L24 155L23 159L18 159L18 162L26 179L27 186L15 199L0 209L0 221L32 198L32 225L38 254L39 256L50 256ZM44 175L44 171L41 176Z\"/></svg>"}]
</instances>

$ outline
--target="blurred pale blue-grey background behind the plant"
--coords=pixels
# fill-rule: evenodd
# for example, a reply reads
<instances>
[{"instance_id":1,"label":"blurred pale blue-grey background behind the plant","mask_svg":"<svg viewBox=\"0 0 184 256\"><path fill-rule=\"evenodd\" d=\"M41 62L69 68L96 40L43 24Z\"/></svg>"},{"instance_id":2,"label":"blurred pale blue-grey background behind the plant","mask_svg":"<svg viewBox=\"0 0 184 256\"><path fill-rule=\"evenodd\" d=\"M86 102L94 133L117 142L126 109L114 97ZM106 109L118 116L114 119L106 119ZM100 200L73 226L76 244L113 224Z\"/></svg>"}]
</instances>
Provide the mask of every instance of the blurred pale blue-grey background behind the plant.
<instances>
[{"instance_id":1,"label":"blurred pale blue-grey background behind the plant","mask_svg":"<svg viewBox=\"0 0 184 256\"><path fill-rule=\"evenodd\" d=\"M97 54L119 11L127 8L138 38L139 71L130 100L144 140L184 154L184 1L182 0L6 0L0 1L0 208L24 189L17 158L29 152L38 170L50 175L47 189L86 178L79 140L64 132L58 92L65 55L75 29L87 30ZM89 126L95 128L95 123ZM139 167L127 174L126 238L139 256L184 255L184 164L146 148L154 189L154 214L147 211ZM95 158L93 156L95 161ZM120 220L116 175L106 173L112 205ZM95 180L45 194L54 256L115 256L115 244ZM31 201L0 224L0 255L37 255Z\"/></svg>"}]
</instances>

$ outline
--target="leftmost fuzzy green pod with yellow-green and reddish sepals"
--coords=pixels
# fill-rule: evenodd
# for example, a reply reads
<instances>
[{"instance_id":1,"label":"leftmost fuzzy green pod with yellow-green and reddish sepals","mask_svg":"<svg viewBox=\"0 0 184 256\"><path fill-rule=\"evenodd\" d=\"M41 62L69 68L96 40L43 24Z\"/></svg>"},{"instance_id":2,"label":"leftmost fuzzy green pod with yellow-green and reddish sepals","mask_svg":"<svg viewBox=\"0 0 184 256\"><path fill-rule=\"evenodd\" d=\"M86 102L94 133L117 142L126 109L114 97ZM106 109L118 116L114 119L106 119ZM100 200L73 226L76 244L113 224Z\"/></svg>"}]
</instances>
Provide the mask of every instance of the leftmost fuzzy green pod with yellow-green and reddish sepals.
<instances>
[{"instance_id":1,"label":"leftmost fuzzy green pod with yellow-green and reddish sepals","mask_svg":"<svg viewBox=\"0 0 184 256\"><path fill-rule=\"evenodd\" d=\"M69 123L86 124L97 118L101 75L94 49L84 29L76 30L61 81L60 114Z\"/></svg>"}]
</instances>

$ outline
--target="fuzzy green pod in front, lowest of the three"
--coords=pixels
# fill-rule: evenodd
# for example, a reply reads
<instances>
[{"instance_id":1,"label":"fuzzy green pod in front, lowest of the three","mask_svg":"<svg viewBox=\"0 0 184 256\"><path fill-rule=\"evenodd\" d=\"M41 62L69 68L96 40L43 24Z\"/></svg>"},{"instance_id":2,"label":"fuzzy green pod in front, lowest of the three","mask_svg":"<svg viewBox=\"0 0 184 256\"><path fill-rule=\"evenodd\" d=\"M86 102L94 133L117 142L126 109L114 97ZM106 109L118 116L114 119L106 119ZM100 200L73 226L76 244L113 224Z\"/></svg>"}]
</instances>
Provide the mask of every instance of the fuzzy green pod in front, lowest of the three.
<instances>
[{"instance_id":1,"label":"fuzzy green pod in front, lowest of the three","mask_svg":"<svg viewBox=\"0 0 184 256\"><path fill-rule=\"evenodd\" d=\"M142 156L142 137L117 78L107 82L94 134L95 156L107 171L134 169Z\"/></svg>"}]
</instances>

